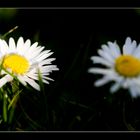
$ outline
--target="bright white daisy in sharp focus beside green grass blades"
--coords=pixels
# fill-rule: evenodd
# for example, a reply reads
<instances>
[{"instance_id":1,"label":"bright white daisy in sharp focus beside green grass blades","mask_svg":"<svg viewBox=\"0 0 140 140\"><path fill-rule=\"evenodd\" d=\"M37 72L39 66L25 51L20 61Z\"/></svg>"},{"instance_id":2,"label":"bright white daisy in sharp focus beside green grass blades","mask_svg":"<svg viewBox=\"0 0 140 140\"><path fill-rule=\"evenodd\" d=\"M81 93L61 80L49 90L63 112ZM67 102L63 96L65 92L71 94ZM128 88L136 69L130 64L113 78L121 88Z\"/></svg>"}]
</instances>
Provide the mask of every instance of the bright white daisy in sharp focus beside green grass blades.
<instances>
[{"instance_id":1,"label":"bright white daisy in sharp focus beside green grass blades","mask_svg":"<svg viewBox=\"0 0 140 140\"><path fill-rule=\"evenodd\" d=\"M44 50L44 46L38 46L38 42L31 45L28 39L24 42L20 37L15 43L11 37L9 44L5 40L0 39L0 60L1 60L1 78L0 88L7 82L14 80L13 76L26 86L29 84L36 90L40 90L37 83L39 80L38 72L42 76L42 81L49 84L48 77L52 71L59 70L56 65L50 65L55 58L48 58L53 52ZM12 75L13 76L12 76Z\"/></svg>"}]
</instances>

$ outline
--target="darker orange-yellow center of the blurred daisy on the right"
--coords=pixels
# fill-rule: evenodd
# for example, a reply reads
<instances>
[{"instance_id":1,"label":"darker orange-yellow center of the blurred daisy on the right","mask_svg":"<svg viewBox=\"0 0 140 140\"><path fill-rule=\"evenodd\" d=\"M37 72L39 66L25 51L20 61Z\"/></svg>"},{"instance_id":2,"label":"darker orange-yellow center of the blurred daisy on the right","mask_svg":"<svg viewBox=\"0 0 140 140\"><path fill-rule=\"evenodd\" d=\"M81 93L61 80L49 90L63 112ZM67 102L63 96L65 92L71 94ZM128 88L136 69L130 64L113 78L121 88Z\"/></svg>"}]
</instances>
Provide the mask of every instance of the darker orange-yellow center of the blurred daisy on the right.
<instances>
[{"instance_id":1,"label":"darker orange-yellow center of the blurred daisy on the right","mask_svg":"<svg viewBox=\"0 0 140 140\"><path fill-rule=\"evenodd\" d=\"M140 59L131 55L121 55L116 59L115 68L123 76L137 76L140 74Z\"/></svg>"}]
</instances>

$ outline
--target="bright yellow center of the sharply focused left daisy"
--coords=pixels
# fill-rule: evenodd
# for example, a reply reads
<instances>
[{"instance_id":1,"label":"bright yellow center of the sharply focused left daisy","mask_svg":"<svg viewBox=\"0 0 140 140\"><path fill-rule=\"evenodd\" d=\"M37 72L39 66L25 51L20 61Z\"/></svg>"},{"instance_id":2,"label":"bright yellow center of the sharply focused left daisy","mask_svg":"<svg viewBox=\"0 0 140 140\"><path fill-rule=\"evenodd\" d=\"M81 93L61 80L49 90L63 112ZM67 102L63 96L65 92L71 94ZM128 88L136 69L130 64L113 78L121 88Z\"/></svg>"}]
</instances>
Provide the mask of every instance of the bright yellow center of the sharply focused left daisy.
<instances>
[{"instance_id":1,"label":"bright yellow center of the sharply focused left daisy","mask_svg":"<svg viewBox=\"0 0 140 140\"><path fill-rule=\"evenodd\" d=\"M24 74L29 69L29 62L21 55L10 54L4 57L3 67L16 74Z\"/></svg>"}]
</instances>

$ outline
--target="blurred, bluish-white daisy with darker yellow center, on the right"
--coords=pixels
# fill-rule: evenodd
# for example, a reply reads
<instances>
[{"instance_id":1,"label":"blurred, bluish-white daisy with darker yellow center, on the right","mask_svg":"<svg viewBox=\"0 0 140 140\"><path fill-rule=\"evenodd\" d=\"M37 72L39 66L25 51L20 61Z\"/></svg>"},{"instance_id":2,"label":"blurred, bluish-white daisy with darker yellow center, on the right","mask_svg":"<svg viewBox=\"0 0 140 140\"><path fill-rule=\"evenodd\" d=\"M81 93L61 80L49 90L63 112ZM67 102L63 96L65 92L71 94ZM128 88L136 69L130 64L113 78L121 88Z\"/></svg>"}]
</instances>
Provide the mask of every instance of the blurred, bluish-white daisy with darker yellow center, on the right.
<instances>
[{"instance_id":1,"label":"blurred, bluish-white daisy with darker yellow center, on the right","mask_svg":"<svg viewBox=\"0 0 140 140\"><path fill-rule=\"evenodd\" d=\"M101 74L103 77L95 82L95 86L102 86L113 81L110 92L120 88L128 89L132 97L140 96L140 44L126 38L122 49L115 42L108 42L98 50L99 56L92 56L94 63L105 68L89 68L89 73Z\"/></svg>"}]
</instances>

